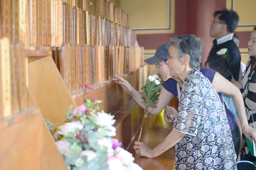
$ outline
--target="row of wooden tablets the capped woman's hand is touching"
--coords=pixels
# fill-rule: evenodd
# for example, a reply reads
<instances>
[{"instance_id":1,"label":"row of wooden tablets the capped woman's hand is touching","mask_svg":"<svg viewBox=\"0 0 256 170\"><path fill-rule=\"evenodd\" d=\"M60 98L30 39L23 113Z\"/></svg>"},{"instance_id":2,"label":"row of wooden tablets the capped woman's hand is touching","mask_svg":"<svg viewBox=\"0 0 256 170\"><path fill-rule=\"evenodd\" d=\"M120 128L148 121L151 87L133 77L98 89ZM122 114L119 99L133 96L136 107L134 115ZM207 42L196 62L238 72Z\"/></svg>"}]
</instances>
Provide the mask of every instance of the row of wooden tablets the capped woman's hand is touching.
<instances>
[{"instance_id":1,"label":"row of wooden tablets the capped woman's hand is touching","mask_svg":"<svg viewBox=\"0 0 256 170\"><path fill-rule=\"evenodd\" d=\"M52 53L71 93L141 67L144 47L63 43Z\"/></svg>"}]
</instances>

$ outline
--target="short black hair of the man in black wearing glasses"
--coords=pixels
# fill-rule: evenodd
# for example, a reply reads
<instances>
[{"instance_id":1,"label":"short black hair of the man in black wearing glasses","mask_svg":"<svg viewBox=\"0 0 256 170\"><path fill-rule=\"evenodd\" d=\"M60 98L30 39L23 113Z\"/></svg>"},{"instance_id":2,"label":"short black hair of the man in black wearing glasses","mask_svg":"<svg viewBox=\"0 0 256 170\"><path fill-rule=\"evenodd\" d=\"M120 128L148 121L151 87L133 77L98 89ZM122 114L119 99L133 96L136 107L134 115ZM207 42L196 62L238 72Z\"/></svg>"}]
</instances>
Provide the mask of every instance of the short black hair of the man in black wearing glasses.
<instances>
[{"instance_id":1,"label":"short black hair of the man in black wearing glasses","mask_svg":"<svg viewBox=\"0 0 256 170\"><path fill-rule=\"evenodd\" d=\"M239 16L237 15L236 11L222 9L219 11L215 11L214 17L216 17L219 14L221 14L219 16L219 20L225 22L228 32L234 32L239 22Z\"/></svg>"}]
</instances>

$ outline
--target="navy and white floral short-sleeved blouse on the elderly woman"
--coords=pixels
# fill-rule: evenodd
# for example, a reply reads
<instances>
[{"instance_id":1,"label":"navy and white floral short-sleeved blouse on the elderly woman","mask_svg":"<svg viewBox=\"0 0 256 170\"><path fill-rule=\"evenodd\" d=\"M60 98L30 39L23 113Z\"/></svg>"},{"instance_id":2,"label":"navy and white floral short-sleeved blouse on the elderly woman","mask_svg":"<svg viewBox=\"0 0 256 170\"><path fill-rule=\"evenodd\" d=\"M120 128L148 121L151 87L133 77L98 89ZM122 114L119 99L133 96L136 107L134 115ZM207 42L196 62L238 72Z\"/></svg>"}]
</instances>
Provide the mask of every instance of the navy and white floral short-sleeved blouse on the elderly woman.
<instances>
[{"instance_id":1,"label":"navy and white floral short-sleeved blouse on the elderly woman","mask_svg":"<svg viewBox=\"0 0 256 170\"><path fill-rule=\"evenodd\" d=\"M176 145L176 170L236 170L236 153L219 95L199 69L186 77L173 129L187 135Z\"/></svg>"}]
</instances>

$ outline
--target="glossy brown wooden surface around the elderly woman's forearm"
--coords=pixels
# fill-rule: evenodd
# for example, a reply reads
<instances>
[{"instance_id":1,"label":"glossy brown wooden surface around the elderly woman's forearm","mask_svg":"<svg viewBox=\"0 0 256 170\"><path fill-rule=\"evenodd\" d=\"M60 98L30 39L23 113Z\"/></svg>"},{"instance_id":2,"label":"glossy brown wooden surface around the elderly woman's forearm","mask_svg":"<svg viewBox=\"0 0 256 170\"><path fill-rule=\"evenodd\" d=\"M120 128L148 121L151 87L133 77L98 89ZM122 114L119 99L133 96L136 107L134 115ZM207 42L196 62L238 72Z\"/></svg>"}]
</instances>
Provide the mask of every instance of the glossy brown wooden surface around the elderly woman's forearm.
<instances>
[{"instance_id":1,"label":"glossy brown wooden surface around the elderly woman's forearm","mask_svg":"<svg viewBox=\"0 0 256 170\"><path fill-rule=\"evenodd\" d=\"M151 147L157 146L161 143L165 137L170 133L172 129L172 123L167 124L163 118L163 115L147 114L142 135L141 142L149 144ZM140 128L139 128L140 131ZM139 138L139 131L128 147L127 151L132 153L135 157L135 163L143 170L174 170L175 169L175 147L170 148L162 155L155 158L142 157L140 155L135 156L135 150L133 149L134 142Z\"/></svg>"}]
</instances>

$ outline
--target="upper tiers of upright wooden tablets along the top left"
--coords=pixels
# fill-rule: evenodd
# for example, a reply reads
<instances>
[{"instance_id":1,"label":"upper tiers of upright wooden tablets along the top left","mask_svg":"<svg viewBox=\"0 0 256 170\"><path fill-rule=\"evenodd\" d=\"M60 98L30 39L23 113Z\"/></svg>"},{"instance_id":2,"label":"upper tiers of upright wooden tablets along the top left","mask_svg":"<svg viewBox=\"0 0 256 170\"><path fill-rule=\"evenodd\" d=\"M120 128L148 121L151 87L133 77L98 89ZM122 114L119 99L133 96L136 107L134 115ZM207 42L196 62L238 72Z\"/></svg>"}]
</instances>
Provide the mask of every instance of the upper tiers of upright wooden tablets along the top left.
<instances>
[{"instance_id":1,"label":"upper tiers of upright wooden tablets along the top left","mask_svg":"<svg viewBox=\"0 0 256 170\"><path fill-rule=\"evenodd\" d=\"M0 37L31 46L135 45L136 32L128 27L128 14L114 5L117 1L64 1L1 0Z\"/></svg>"}]
</instances>

